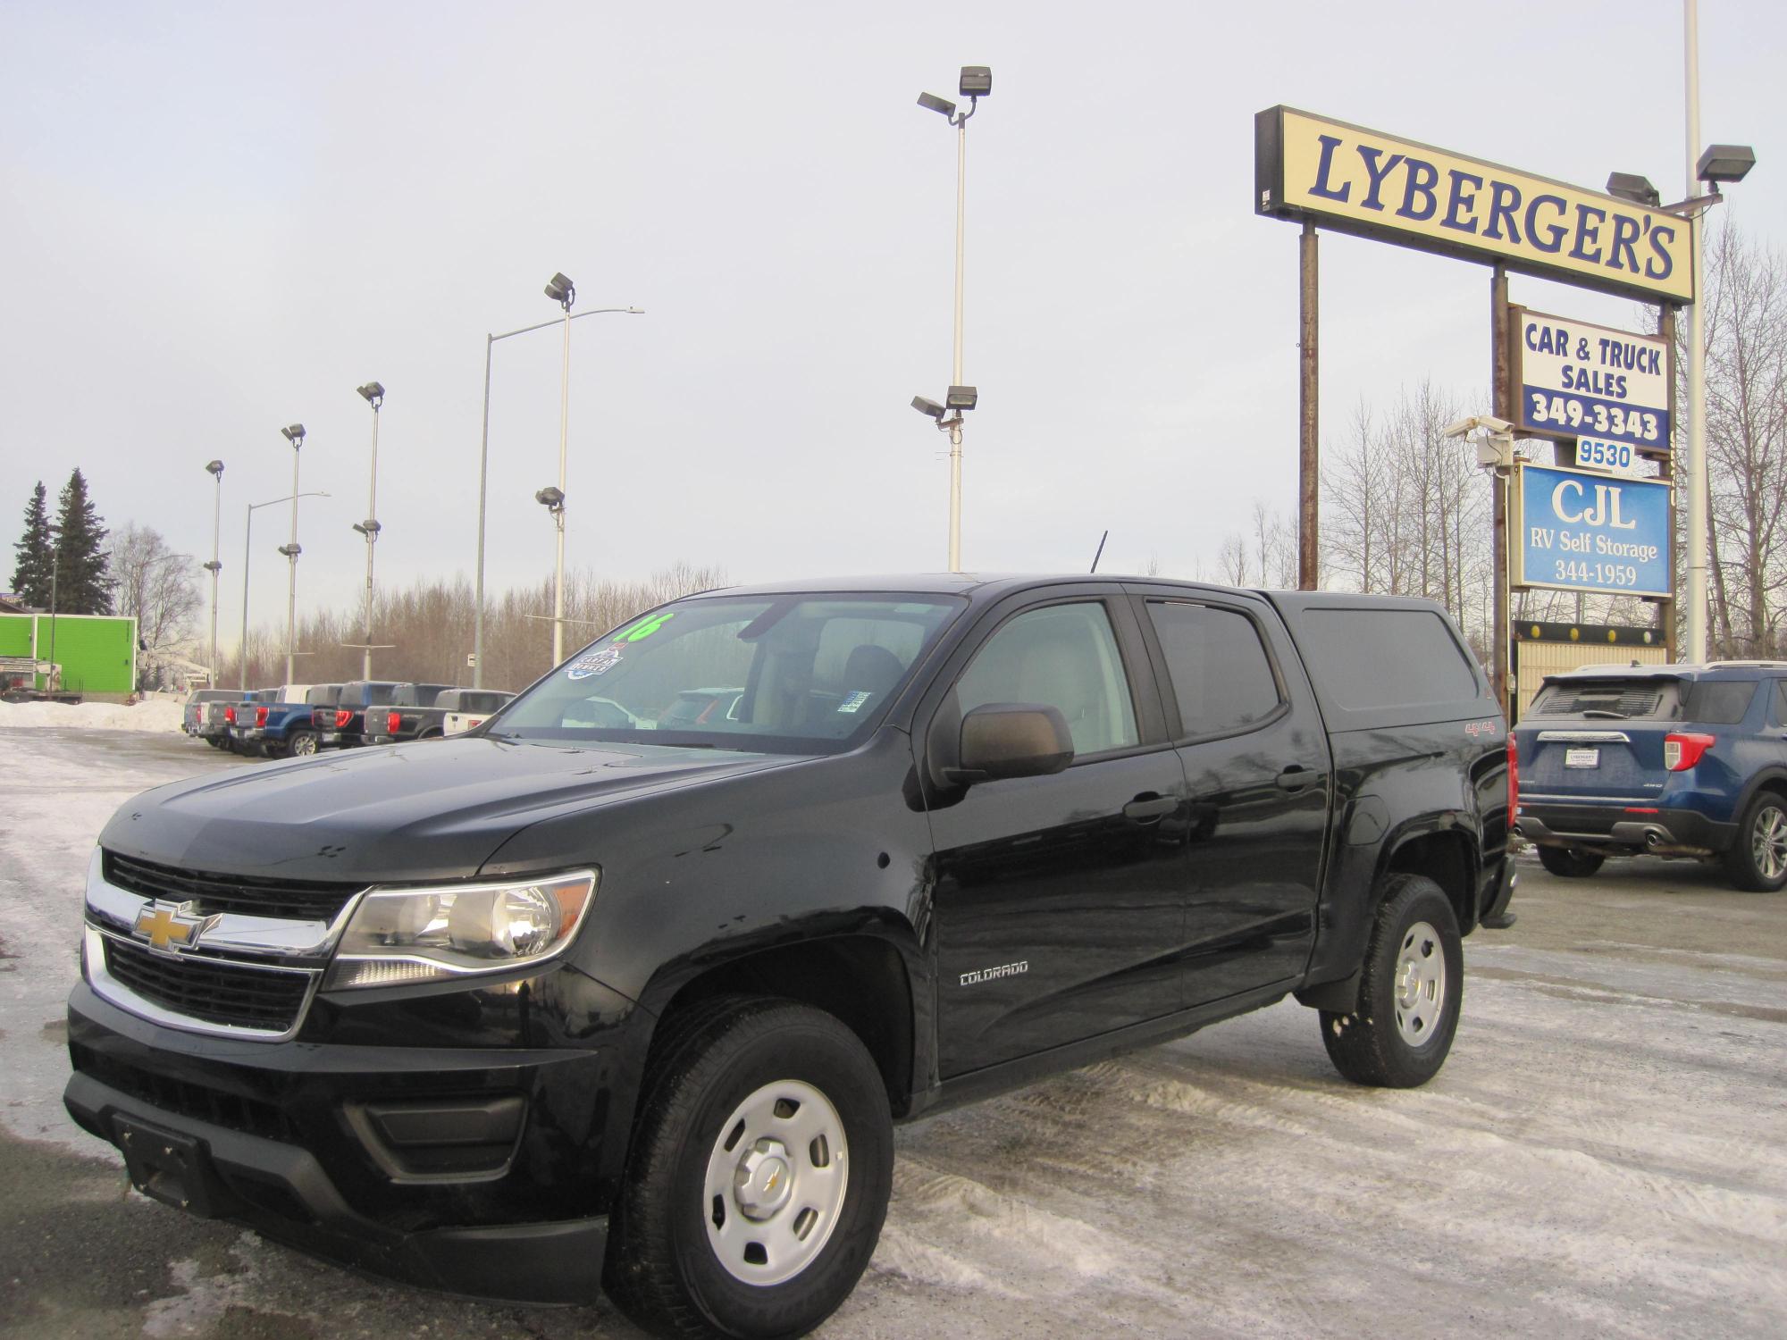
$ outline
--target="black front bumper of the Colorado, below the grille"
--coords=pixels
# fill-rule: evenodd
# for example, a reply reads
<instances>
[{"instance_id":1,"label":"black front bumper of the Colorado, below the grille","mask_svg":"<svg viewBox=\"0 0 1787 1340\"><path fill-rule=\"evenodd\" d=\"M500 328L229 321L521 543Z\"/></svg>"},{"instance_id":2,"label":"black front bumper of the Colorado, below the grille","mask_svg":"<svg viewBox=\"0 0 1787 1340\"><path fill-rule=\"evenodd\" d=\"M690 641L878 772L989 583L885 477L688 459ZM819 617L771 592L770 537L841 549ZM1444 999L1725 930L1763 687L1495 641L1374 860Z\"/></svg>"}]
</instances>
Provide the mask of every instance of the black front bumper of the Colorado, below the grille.
<instances>
[{"instance_id":1,"label":"black front bumper of the Colorado, below the grille","mask_svg":"<svg viewBox=\"0 0 1787 1340\"><path fill-rule=\"evenodd\" d=\"M68 1034L64 1106L155 1199L454 1294L599 1292L604 1049L232 1042L84 984Z\"/></svg>"}]
</instances>

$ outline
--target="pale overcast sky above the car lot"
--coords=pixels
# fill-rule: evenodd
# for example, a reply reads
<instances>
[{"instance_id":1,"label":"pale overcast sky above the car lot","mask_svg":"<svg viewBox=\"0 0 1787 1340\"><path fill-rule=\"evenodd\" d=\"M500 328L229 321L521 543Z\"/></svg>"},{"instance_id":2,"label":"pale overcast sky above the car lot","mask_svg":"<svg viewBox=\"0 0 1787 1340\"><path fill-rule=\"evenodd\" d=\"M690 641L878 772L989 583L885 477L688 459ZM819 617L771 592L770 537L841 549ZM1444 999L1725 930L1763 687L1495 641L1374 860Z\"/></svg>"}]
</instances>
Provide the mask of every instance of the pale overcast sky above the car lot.
<instances>
[{"instance_id":1,"label":"pale overcast sky above the car lot","mask_svg":"<svg viewBox=\"0 0 1787 1340\"><path fill-rule=\"evenodd\" d=\"M1787 7L1701 5L1701 138L1787 245ZM472 572L484 334L572 327L568 554L733 579L938 570L954 141L969 129L963 557L1213 572L1296 504L1297 229L1256 218L1290 104L1583 186L1683 191L1680 0L1630 4L66 4L0 7L0 549L80 466L107 523L211 556L291 491L298 599L357 602L382 381L379 577ZM1322 238L1322 432L1433 377L1487 395L1489 272ZM1612 325L1633 304L1514 277ZM550 574L556 331L495 347L490 582ZM1487 409L1487 404L1483 404ZM279 622L286 509L256 515ZM223 620L225 627L234 618Z\"/></svg>"}]
</instances>

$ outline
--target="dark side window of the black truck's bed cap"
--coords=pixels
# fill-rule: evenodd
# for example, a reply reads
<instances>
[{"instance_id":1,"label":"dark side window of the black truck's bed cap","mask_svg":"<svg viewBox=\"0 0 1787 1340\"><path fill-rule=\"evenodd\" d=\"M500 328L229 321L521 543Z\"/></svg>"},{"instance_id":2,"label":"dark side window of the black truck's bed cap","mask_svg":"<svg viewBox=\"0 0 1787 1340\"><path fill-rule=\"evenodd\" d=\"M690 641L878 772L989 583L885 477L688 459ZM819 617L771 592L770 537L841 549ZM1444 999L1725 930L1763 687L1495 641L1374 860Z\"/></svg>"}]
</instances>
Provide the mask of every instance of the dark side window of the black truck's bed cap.
<instances>
[{"instance_id":1,"label":"dark side window of the black truck's bed cap","mask_svg":"<svg viewBox=\"0 0 1787 1340\"><path fill-rule=\"evenodd\" d=\"M1431 609L1310 609L1297 632L1303 663L1349 711L1478 697L1464 649Z\"/></svg>"}]
</instances>

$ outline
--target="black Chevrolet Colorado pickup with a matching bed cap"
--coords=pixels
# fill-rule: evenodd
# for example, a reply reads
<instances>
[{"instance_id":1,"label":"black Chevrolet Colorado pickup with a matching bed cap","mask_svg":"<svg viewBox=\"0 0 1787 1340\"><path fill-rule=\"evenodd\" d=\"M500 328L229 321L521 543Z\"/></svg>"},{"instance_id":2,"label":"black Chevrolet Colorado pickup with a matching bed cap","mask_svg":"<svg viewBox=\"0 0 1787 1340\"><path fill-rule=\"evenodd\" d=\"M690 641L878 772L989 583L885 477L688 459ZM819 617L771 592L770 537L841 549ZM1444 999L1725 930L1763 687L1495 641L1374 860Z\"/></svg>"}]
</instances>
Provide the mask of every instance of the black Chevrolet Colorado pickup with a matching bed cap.
<instances>
[{"instance_id":1,"label":"black Chevrolet Colorado pickup with a matching bed cap","mask_svg":"<svg viewBox=\"0 0 1787 1340\"><path fill-rule=\"evenodd\" d=\"M1346 1077L1433 1077L1514 920L1505 741L1419 600L709 591L468 734L125 804L64 1101L148 1195L334 1260L801 1335L894 1122L1285 995Z\"/></svg>"}]
</instances>

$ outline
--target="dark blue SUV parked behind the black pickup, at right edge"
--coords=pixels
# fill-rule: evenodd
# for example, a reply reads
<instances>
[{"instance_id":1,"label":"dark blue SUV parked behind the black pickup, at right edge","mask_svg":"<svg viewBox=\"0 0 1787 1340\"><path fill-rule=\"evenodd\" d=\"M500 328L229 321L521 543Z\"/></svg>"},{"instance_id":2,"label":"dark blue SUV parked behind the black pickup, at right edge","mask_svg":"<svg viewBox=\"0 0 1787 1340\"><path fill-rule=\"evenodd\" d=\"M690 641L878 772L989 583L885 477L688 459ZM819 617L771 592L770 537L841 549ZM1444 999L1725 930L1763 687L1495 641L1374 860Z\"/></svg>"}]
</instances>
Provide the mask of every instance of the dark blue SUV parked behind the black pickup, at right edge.
<instances>
[{"instance_id":1,"label":"dark blue SUV parked behind the black pickup, at right edge","mask_svg":"<svg viewBox=\"0 0 1787 1340\"><path fill-rule=\"evenodd\" d=\"M1692 856L1737 888L1787 884L1787 661L1546 675L1512 738L1514 831L1551 874Z\"/></svg>"}]
</instances>

